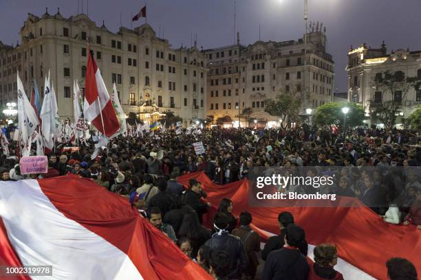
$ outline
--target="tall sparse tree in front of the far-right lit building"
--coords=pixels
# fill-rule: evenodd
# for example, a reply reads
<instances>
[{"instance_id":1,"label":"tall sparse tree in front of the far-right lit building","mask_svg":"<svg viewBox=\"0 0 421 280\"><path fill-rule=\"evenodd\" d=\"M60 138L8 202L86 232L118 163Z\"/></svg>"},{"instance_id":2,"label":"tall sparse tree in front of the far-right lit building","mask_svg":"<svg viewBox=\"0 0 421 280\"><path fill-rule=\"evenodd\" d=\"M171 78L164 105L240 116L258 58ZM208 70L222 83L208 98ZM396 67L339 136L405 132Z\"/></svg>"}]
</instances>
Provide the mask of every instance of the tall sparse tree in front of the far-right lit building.
<instances>
[{"instance_id":1,"label":"tall sparse tree in front of the far-right lit building","mask_svg":"<svg viewBox=\"0 0 421 280\"><path fill-rule=\"evenodd\" d=\"M396 124L396 115L402 108L402 100L405 100L410 89L418 91L421 81L415 77L404 77L402 71L390 73L385 71L376 76L373 87L376 89L374 100L369 100L369 110L374 121L380 121L387 130Z\"/></svg>"}]
</instances>

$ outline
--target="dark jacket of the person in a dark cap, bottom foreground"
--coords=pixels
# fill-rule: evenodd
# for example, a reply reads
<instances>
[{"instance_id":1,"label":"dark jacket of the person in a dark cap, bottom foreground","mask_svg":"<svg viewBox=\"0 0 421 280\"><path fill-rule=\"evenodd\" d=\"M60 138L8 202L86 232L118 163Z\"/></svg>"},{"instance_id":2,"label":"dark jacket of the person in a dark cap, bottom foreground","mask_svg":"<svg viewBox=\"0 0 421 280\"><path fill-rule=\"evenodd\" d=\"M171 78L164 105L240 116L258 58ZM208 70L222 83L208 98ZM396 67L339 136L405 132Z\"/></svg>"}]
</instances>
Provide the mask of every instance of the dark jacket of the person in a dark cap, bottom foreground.
<instances>
[{"instance_id":1,"label":"dark jacket of the person in a dark cap, bottom foreground","mask_svg":"<svg viewBox=\"0 0 421 280\"><path fill-rule=\"evenodd\" d=\"M265 280L307 280L310 268L298 249L283 247L268 255L263 268Z\"/></svg>"}]
</instances>

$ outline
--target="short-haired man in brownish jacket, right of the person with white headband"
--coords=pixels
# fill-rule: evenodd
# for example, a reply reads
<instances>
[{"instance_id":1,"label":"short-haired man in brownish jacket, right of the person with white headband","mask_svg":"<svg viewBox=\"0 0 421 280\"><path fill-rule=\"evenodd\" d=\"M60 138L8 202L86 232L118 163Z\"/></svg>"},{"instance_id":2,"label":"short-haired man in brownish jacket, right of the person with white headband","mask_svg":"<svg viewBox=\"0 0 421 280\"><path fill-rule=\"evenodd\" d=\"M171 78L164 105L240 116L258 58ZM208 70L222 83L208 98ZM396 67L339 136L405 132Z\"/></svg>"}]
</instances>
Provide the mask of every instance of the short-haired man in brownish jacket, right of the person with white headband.
<instances>
[{"instance_id":1,"label":"short-haired man in brownish jacket, right of the person with white headband","mask_svg":"<svg viewBox=\"0 0 421 280\"><path fill-rule=\"evenodd\" d=\"M232 234L240 237L249 261L248 268L244 270L241 279L255 279L257 266L259 266L259 259L256 255L260 250L259 234L250 228L252 215L247 211L241 212L239 222L239 228L234 229Z\"/></svg>"}]
</instances>

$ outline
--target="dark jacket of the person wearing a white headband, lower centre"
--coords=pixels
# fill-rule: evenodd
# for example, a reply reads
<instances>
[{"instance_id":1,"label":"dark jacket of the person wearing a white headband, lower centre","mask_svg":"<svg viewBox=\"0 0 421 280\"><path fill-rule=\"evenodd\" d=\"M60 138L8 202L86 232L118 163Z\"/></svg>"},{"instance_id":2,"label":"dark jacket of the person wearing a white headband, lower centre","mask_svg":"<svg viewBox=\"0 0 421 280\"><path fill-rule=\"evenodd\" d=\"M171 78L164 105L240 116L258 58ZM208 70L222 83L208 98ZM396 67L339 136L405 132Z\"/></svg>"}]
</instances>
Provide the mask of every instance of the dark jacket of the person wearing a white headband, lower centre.
<instances>
[{"instance_id":1,"label":"dark jacket of the person wearing a white headband, lower centre","mask_svg":"<svg viewBox=\"0 0 421 280\"><path fill-rule=\"evenodd\" d=\"M248 257L239 237L230 235L228 231L224 231L221 235L214 233L205 245L213 250L225 250L231 257L228 278L240 279L241 271L248 268Z\"/></svg>"}]
</instances>

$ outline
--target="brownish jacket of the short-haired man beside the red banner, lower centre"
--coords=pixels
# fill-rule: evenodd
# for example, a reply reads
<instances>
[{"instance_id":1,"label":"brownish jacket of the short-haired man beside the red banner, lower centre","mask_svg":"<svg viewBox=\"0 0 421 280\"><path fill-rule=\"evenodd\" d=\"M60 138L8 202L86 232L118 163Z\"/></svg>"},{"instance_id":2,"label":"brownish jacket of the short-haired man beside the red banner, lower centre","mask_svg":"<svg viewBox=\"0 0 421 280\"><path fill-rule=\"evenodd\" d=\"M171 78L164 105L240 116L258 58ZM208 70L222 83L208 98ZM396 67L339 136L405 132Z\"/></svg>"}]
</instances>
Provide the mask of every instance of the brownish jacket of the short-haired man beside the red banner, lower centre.
<instances>
[{"instance_id":1,"label":"brownish jacket of the short-haired man beside the red banner, lower centre","mask_svg":"<svg viewBox=\"0 0 421 280\"><path fill-rule=\"evenodd\" d=\"M252 231L250 226L240 226L238 229L233 231L233 235L240 237L241 243L246 250L246 254L249 261L249 268L256 270L259 266L259 259L257 259L256 253L260 250L260 239L257 232Z\"/></svg>"}]
</instances>

